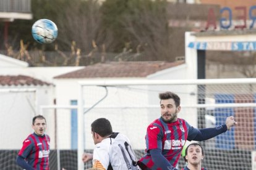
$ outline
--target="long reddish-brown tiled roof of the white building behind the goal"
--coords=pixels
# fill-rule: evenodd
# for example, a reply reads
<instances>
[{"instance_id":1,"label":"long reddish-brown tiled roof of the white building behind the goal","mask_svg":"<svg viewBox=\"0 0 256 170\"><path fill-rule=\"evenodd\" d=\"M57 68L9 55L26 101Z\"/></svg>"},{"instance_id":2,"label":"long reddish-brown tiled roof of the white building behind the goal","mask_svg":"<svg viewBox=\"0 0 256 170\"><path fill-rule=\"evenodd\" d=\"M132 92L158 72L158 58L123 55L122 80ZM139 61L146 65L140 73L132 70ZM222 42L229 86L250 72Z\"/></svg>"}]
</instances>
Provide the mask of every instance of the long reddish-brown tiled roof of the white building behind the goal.
<instances>
[{"instance_id":1,"label":"long reddish-brown tiled roof of the white building behind the goal","mask_svg":"<svg viewBox=\"0 0 256 170\"><path fill-rule=\"evenodd\" d=\"M89 65L55 78L124 78L146 77L157 71L181 65L179 62L108 62Z\"/></svg>"}]
</instances>

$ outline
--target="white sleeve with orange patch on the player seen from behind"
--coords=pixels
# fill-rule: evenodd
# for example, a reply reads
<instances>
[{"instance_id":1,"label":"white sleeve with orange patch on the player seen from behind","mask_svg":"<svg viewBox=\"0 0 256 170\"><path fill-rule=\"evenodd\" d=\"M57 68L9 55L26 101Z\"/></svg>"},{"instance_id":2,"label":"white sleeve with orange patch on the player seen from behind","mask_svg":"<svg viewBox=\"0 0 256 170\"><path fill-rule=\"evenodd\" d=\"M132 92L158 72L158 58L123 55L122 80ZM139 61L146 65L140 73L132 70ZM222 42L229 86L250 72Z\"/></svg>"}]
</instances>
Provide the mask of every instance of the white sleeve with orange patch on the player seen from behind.
<instances>
[{"instance_id":1,"label":"white sleeve with orange patch on the player seen from behind","mask_svg":"<svg viewBox=\"0 0 256 170\"><path fill-rule=\"evenodd\" d=\"M108 169L109 162L109 148L96 145L93 150L93 168Z\"/></svg>"}]
</instances>

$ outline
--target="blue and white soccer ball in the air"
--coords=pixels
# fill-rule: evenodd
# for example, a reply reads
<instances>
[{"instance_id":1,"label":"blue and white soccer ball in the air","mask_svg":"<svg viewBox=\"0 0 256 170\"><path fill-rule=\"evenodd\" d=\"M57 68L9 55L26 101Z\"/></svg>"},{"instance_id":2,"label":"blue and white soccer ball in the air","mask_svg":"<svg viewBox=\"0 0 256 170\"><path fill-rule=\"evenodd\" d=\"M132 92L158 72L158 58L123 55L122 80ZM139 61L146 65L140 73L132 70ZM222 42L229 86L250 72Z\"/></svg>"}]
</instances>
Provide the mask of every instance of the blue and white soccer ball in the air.
<instances>
[{"instance_id":1,"label":"blue and white soccer ball in the air","mask_svg":"<svg viewBox=\"0 0 256 170\"><path fill-rule=\"evenodd\" d=\"M37 20L32 26L32 36L41 44L49 44L57 38L58 28L51 20Z\"/></svg>"}]
</instances>

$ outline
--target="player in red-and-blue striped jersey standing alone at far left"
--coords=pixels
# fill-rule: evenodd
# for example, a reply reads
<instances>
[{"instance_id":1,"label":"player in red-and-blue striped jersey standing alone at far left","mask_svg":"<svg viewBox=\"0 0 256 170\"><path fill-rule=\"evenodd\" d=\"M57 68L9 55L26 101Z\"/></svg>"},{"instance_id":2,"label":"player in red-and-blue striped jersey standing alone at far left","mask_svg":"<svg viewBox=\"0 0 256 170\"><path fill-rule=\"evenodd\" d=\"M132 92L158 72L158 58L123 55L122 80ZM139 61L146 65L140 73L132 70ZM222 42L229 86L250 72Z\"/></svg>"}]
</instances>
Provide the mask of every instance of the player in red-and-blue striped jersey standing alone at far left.
<instances>
[{"instance_id":1,"label":"player in red-and-blue striped jersey standing alone at far left","mask_svg":"<svg viewBox=\"0 0 256 170\"><path fill-rule=\"evenodd\" d=\"M24 140L16 163L27 170L49 170L49 136L45 134L46 119L38 115L32 120L33 134Z\"/></svg>"}]
</instances>

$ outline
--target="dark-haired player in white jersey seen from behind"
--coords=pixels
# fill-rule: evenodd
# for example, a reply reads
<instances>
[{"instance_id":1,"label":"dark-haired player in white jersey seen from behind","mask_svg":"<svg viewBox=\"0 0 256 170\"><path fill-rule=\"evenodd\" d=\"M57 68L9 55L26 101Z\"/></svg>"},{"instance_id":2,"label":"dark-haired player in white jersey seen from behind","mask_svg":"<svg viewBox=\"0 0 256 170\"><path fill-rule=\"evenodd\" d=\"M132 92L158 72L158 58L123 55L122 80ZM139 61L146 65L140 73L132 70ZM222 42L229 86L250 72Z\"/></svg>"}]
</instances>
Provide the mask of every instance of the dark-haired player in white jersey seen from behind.
<instances>
[{"instance_id":1,"label":"dark-haired player in white jersey seen from behind","mask_svg":"<svg viewBox=\"0 0 256 170\"><path fill-rule=\"evenodd\" d=\"M108 119L96 119L91 126L95 148L93 154L83 154L83 162L93 160L92 169L139 169L129 139L124 134L113 132Z\"/></svg>"}]
</instances>

